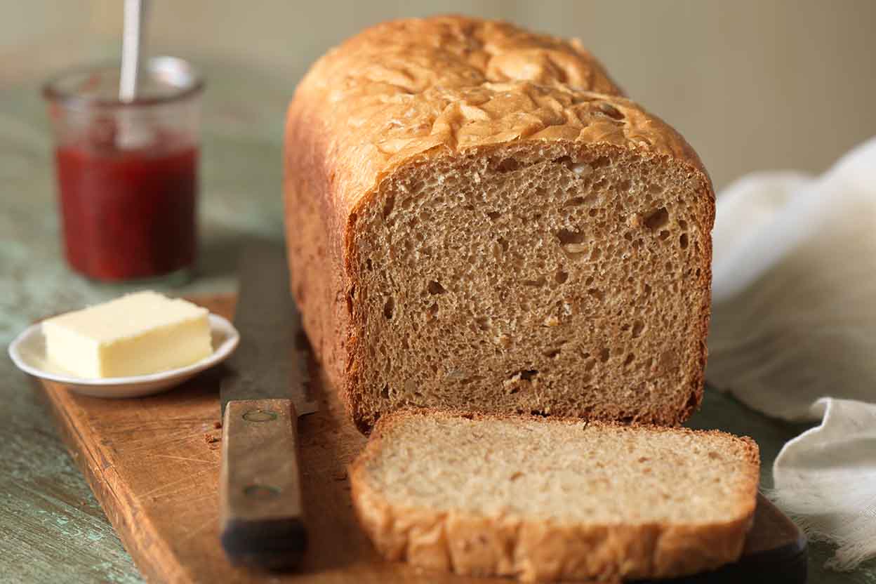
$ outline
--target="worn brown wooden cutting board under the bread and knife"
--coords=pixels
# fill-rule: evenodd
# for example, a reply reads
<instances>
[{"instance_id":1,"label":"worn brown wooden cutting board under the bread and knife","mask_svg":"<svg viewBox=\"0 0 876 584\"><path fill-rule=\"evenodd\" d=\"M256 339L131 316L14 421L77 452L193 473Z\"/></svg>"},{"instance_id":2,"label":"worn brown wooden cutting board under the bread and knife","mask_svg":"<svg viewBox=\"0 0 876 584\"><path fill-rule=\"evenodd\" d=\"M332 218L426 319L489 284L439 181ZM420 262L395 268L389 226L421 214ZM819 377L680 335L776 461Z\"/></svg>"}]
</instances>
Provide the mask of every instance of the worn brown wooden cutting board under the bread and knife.
<instances>
[{"instance_id":1,"label":"worn brown wooden cutting board under the bread and knife","mask_svg":"<svg viewBox=\"0 0 876 584\"><path fill-rule=\"evenodd\" d=\"M214 313L228 317L233 313L233 297L194 301ZM310 536L304 565L300 572L287 574L230 566L219 545L218 383L217 372L206 372L173 391L126 400L87 398L56 383L42 384L70 453L146 580L156 584L509 581L426 572L378 557L353 517L346 474L365 439L346 419L335 392L324 391L324 383L315 388L320 412L299 421ZM794 524L761 499L744 559L722 573L683 581L767 577L773 582L805 581L806 555Z\"/></svg>"}]
</instances>

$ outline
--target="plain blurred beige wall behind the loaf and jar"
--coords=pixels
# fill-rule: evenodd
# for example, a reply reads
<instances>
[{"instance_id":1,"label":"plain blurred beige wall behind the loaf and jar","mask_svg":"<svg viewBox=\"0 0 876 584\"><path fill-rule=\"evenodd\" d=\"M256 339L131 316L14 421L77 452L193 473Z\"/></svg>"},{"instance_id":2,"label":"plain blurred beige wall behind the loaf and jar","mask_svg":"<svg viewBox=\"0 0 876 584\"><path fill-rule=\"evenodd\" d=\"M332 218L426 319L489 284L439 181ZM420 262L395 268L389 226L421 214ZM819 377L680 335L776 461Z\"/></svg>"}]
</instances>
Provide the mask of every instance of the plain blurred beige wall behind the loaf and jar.
<instances>
[{"instance_id":1,"label":"plain blurred beige wall behind the loaf and jar","mask_svg":"<svg viewBox=\"0 0 876 584\"><path fill-rule=\"evenodd\" d=\"M0 0L0 92L77 60L117 53L121 0ZM270 123L307 65L385 18L463 12L583 39L633 99L689 138L716 186L766 168L823 170L876 134L876 2L154 0L155 52L270 78ZM32 56L46 44L39 60ZM0 93L2 99L2 93ZM264 122L265 120L263 120ZM0 138L2 139L2 138Z\"/></svg>"}]
</instances>

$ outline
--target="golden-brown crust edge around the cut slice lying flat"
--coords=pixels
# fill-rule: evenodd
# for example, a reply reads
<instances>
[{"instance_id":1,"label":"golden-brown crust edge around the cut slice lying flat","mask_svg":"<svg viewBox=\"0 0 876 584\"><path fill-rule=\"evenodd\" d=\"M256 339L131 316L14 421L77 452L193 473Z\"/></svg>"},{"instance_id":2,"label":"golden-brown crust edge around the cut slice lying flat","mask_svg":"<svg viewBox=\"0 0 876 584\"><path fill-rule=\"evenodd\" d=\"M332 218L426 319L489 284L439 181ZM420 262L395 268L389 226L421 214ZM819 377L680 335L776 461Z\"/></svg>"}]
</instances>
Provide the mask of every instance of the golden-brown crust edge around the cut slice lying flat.
<instances>
[{"instance_id":1,"label":"golden-brown crust edge around the cut slice lying flat","mask_svg":"<svg viewBox=\"0 0 876 584\"><path fill-rule=\"evenodd\" d=\"M619 581L667 578L703 572L735 561L751 527L759 482L759 451L753 440L719 431L637 426L651 432L731 437L743 444L750 503L738 517L712 524L558 524L517 517L399 508L374 492L365 477L385 433L408 416L515 419L519 416L401 410L381 418L362 454L350 468L354 508L360 524L386 559L470 575L516 576L520 580ZM543 419L545 424L580 425L573 419ZM593 422L597 426L623 426Z\"/></svg>"}]
</instances>

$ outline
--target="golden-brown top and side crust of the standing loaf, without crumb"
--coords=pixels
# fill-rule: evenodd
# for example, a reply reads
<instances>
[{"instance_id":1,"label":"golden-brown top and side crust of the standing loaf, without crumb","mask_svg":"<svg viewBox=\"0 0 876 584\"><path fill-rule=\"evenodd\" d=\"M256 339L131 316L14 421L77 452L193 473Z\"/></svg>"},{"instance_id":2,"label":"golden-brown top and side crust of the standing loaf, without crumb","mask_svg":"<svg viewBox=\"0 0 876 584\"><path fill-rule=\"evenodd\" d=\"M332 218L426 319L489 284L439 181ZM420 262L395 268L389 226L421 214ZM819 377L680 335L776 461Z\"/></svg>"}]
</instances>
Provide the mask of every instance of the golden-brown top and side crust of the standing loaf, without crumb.
<instances>
[{"instance_id":1,"label":"golden-brown top and side crust of the standing loaf, without crumb","mask_svg":"<svg viewBox=\"0 0 876 584\"><path fill-rule=\"evenodd\" d=\"M360 429L370 422L357 412L356 221L392 173L512 142L562 142L675 161L701 177L713 201L689 144L620 95L577 41L476 18L384 23L314 64L286 118L286 238L307 334ZM703 232L712 219L702 218ZM707 323L704 306L703 339ZM684 411L654 421L686 419L702 391L701 371Z\"/></svg>"}]
</instances>

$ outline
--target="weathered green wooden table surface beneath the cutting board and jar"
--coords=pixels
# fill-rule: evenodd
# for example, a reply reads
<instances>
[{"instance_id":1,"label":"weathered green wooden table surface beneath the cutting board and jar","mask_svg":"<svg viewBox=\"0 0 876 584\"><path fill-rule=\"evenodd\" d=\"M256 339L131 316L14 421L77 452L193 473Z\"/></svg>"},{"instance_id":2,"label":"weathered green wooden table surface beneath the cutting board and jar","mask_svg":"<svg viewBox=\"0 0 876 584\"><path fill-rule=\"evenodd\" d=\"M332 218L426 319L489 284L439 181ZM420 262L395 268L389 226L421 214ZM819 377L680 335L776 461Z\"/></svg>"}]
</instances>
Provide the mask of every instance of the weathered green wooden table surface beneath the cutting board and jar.
<instances>
[{"instance_id":1,"label":"weathered green wooden table surface beneath the cutting board and jar","mask_svg":"<svg viewBox=\"0 0 876 584\"><path fill-rule=\"evenodd\" d=\"M204 66L206 63L206 66ZM205 95L201 261L174 294L231 292L235 250L248 237L282 237L280 147L293 83L201 61ZM60 254L51 137L39 97L46 70L3 78L0 62L0 345L32 320L124 292L67 270ZM18 67L18 71L21 67ZM258 99L254 98L258 95ZM139 582L137 568L69 458L30 379L0 356L0 582ZM752 436L762 482L779 448L802 430L707 393L692 426ZM812 545L810 581L876 584L876 562L854 573L823 570L826 545Z\"/></svg>"}]
</instances>

